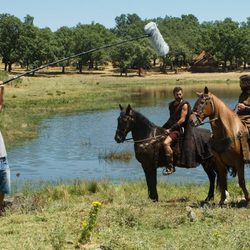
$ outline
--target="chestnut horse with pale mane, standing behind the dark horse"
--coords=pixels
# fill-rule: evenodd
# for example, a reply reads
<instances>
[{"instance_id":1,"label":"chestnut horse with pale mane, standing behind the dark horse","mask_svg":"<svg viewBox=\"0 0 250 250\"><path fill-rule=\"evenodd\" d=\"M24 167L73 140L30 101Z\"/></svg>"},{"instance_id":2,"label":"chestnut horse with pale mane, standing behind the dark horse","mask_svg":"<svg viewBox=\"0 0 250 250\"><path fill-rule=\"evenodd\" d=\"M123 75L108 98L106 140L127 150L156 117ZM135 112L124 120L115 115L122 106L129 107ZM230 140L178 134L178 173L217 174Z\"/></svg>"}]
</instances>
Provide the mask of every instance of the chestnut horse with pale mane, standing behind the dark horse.
<instances>
[{"instance_id":1,"label":"chestnut horse with pale mane, standing behind the dark horse","mask_svg":"<svg viewBox=\"0 0 250 250\"><path fill-rule=\"evenodd\" d=\"M229 168L233 171L234 176L238 174L239 185L244 192L247 204L249 204L250 196L245 183L244 160L240 141L245 126L238 115L218 97L210 93L207 87L198 96L190 116L190 123L193 126L199 126L206 117L210 119L213 134L211 142L216 146L213 153L220 181L220 204L224 204L226 200L227 170ZM223 144L224 149L221 147Z\"/></svg>"}]
</instances>

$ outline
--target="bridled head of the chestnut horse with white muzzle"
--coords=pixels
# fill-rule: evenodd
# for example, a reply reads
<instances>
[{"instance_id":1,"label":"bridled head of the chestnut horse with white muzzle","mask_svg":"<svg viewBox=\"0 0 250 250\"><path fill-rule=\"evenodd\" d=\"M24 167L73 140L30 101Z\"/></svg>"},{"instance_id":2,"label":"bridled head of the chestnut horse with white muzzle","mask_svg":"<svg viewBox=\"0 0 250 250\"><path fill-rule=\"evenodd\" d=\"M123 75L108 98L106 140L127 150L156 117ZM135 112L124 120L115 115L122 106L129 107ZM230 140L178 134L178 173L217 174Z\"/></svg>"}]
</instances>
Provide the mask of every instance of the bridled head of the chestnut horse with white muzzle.
<instances>
[{"instance_id":1,"label":"bridled head of the chestnut horse with white muzzle","mask_svg":"<svg viewBox=\"0 0 250 250\"><path fill-rule=\"evenodd\" d=\"M206 117L214 114L212 95L208 88L205 87L203 93L197 93L197 95L198 100L195 102L190 115L190 124L194 127L201 125Z\"/></svg>"}]
</instances>

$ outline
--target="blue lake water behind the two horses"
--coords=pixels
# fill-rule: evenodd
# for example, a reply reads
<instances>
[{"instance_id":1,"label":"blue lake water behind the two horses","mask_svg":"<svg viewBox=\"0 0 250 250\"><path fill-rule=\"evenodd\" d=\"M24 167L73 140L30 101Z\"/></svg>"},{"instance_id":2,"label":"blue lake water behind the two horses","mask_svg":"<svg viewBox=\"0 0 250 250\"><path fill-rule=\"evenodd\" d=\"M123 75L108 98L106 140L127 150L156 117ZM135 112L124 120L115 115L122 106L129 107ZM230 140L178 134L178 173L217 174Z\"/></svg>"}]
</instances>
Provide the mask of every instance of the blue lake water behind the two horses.
<instances>
[{"instance_id":1,"label":"blue lake water behind the two horses","mask_svg":"<svg viewBox=\"0 0 250 250\"><path fill-rule=\"evenodd\" d=\"M138 96L134 98L138 103L134 109L159 126L165 123L169 116L169 98L159 98L157 94L150 94L148 102L145 101L145 96L141 99ZM193 105L194 98L188 97L186 100ZM233 108L237 97L225 97L223 100ZM20 184L40 180L144 179L143 170L134 157L126 163L100 160L99 156L105 152L133 152L133 143L117 144L114 141L118 115L117 107L115 110L60 115L44 120L37 139L8 152L12 181ZM209 125L203 127L209 128ZM168 177L162 176L161 171L161 168L158 169L158 178L163 181L207 182L201 166L195 169L177 168ZM250 168L246 168L246 172L249 178ZM17 177L17 174L20 176Z\"/></svg>"}]
</instances>

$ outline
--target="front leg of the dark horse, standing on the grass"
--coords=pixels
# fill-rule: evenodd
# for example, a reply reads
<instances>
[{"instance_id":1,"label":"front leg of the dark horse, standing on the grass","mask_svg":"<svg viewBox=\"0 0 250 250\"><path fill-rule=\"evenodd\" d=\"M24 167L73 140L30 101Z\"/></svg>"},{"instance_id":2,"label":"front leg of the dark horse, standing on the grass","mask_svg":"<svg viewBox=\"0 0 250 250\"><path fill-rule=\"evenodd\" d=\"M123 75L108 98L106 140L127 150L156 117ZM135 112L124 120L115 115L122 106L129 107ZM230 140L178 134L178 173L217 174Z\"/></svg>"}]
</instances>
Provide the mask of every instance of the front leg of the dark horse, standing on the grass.
<instances>
[{"instance_id":1,"label":"front leg of the dark horse, standing on the grass","mask_svg":"<svg viewBox=\"0 0 250 250\"><path fill-rule=\"evenodd\" d=\"M152 201L158 201L158 193L157 193L157 171L156 166L154 164L142 164L142 168L145 173L146 182L148 186L148 196Z\"/></svg>"}]
</instances>

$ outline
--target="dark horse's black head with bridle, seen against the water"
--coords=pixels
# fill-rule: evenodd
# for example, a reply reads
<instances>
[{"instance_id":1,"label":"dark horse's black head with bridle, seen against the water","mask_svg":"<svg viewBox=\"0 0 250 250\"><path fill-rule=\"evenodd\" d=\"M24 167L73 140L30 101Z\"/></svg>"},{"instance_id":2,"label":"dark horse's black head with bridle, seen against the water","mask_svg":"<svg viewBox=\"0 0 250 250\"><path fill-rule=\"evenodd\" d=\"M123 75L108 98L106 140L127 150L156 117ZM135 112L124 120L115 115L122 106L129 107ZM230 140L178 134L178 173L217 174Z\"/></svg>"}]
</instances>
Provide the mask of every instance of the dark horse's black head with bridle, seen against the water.
<instances>
[{"instance_id":1,"label":"dark horse's black head with bridle, seen against the water","mask_svg":"<svg viewBox=\"0 0 250 250\"><path fill-rule=\"evenodd\" d=\"M121 104L119 104L119 107L121 112L117 119L117 129L115 133L115 140L117 143L125 141L126 136L133 128L134 123L134 112L130 104L127 106L126 109L124 109Z\"/></svg>"}]
</instances>

